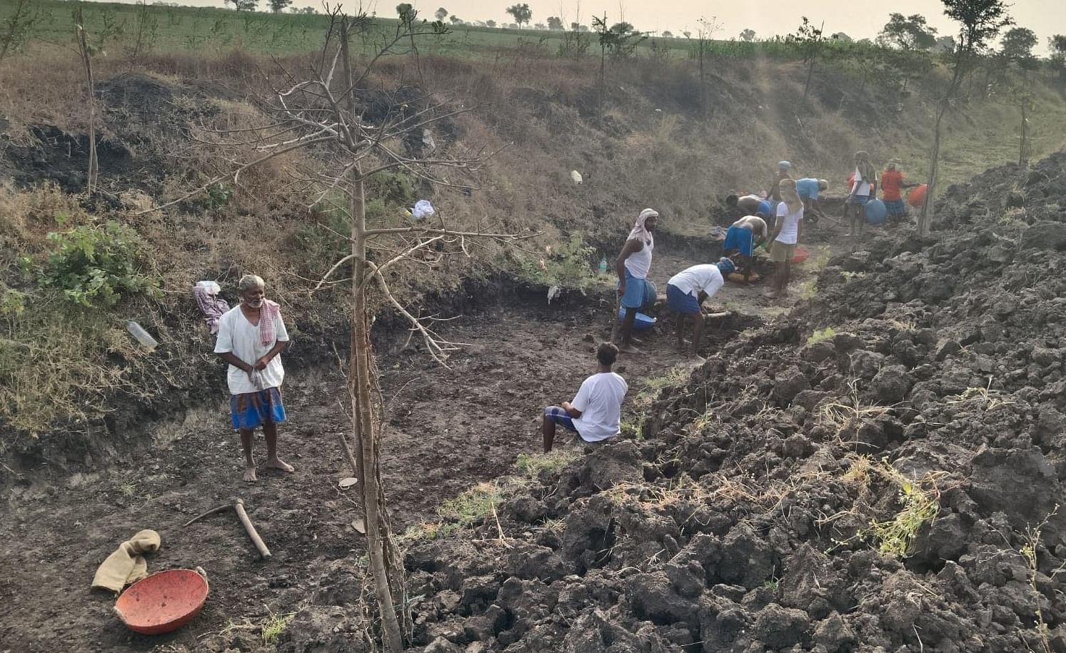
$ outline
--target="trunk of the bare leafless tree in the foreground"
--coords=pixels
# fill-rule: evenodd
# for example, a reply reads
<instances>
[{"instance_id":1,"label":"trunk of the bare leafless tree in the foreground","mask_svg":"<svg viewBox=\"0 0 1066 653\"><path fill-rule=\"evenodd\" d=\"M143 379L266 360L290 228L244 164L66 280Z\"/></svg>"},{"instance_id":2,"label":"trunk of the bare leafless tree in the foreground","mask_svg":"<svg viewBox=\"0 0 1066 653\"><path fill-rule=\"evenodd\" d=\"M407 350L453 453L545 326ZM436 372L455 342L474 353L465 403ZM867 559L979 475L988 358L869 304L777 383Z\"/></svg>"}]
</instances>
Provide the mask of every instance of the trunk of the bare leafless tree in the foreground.
<instances>
[{"instance_id":1,"label":"trunk of the bare leafless tree in the foreground","mask_svg":"<svg viewBox=\"0 0 1066 653\"><path fill-rule=\"evenodd\" d=\"M358 119L352 86L352 62L348 48L349 25L341 21L341 56L348 81L348 110L350 119ZM367 526L367 557L374 581L374 595L382 620L382 643L386 653L403 651L403 634L397 618L393 592L402 597L403 581L390 578L386 550L391 550L388 513L385 509L381 485L378 443L374 419L374 398L379 396L374 353L370 344L370 325L367 310L367 206L362 173L359 166L352 169L352 194L349 207L352 216L352 352L349 361L349 390L352 396L352 430L360 469L359 485L362 489L364 519Z\"/></svg>"}]
</instances>

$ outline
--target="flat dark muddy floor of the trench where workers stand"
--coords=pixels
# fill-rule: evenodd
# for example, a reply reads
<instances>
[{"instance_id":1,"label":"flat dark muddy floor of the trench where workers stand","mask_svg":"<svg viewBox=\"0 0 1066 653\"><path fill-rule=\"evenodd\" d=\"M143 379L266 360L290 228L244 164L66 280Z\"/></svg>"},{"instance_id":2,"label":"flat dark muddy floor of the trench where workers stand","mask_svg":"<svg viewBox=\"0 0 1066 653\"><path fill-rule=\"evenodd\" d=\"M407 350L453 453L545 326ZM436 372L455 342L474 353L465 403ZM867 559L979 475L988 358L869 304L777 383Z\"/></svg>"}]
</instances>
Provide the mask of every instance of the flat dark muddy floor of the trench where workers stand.
<instances>
[{"instance_id":1,"label":"flat dark muddy floor of the trench where workers stand","mask_svg":"<svg viewBox=\"0 0 1066 653\"><path fill-rule=\"evenodd\" d=\"M716 256L712 246L672 251L664 245L652 277L664 291L671 274ZM763 290L727 284L714 303L746 305L753 313L782 310ZM450 359L451 370L404 349L405 333L382 334L379 369L389 405L383 464L398 532L436 520L443 500L514 474L519 454L539 452L539 408L571 398L591 373L595 343L609 333L613 301L608 288L569 293L552 305L530 292L487 305L468 299L480 308L443 329L450 340L468 343ZM726 319L707 334L702 353L761 322L740 313ZM691 365L673 349L668 319L662 326L645 334L647 356L625 357L617 365L630 381L630 397L648 378ZM206 336L204 343L211 344ZM271 614L295 611L312 597L314 603L355 600L352 569L362 540L349 525L357 516L354 497L337 486L349 475L337 442L349 428L342 393L335 366L290 369L280 451L296 468L291 476L261 470L259 483L241 483L240 444L221 403L155 430L149 450L119 457L109 469L71 473L43 464L20 471L0 522L0 559L9 569L0 579L0 651L200 651L233 642L246 650L258 648L258 624ZM577 446L562 435L559 444ZM257 445L261 457L261 440ZM257 560L231 513L181 527L235 496L247 504L273 560ZM150 570L199 566L211 578L204 613L174 635L131 634L111 613L112 599L88 588L96 566L142 528L162 537L162 550L149 556ZM323 574L353 582L319 589ZM217 635L232 624L253 627Z\"/></svg>"}]
</instances>

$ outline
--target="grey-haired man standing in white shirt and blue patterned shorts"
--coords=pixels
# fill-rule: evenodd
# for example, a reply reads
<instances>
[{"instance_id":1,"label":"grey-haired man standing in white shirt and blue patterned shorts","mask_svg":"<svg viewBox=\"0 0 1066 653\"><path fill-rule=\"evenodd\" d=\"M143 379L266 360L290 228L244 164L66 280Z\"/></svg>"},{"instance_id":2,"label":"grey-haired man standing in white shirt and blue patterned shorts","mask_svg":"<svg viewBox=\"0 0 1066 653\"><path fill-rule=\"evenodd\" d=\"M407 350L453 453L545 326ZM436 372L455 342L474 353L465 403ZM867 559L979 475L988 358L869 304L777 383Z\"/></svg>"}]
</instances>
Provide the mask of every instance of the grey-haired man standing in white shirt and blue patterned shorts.
<instances>
[{"instance_id":1,"label":"grey-haired man standing in white shirt and blue patterned shorts","mask_svg":"<svg viewBox=\"0 0 1066 653\"><path fill-rule=\"evenodd\" d=\"M252 483L256 479L252 440L260 426L266 439L266 467L292 472L292 466L277 457L277 425L285 422L285 370L278 354L289 344L289 332L280 307L265 298L260 277L244 275L237 291L241 303L219 319L214 353L229 363L229 413L244 446L244 480Z\"/></svg>"}]
</instances>

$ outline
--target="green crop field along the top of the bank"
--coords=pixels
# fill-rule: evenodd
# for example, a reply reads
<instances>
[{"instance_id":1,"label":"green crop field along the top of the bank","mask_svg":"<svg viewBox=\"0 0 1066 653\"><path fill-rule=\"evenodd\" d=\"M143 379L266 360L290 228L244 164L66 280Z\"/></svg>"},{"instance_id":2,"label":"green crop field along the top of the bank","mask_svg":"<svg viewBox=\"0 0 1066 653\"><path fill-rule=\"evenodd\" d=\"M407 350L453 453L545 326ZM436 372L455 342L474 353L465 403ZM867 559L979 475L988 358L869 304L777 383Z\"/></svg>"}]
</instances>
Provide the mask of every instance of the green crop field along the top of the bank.
<instances>
[{"instance_id":1,"label":"green crop field along the top of the bank","mask_svg":"<svg viewBox=\"0 0 1066 653\"><path fill-rule=\"evenodd\" d=\"M0 25L11 18L16 0L0 2ZM237 12L230 9L140 5L117 2L69 2L64 0L33 0L30 17L32 25L21 49L43 53L50 49L74 45L75 12L80 6L91 39L109 54L129 53L133 44L138 51L156 52L211 52L242 48L256 54L288 54L306 52L321 47L328 23L321 14L292 14L264 12ZM420 18L432 18L422 16ZM356 47L370 50L375 37L395 29L397 20L375 17L373 27ZM424 35L415 46L426 54L462 54L491 56L500 51L526 50L531 54L556 55L574 52L575 42L583 42L583 53L599 55L597 35L584 32L577 35L560 31L527 28L522 30L448 26L445 34ZM665 58L691 56L696 51L696 40L688 38L648 38L640 48L648 55ZM567 49L569 44L570 49ZM578 45L577 47L581 47ZM850 50L856 44L830 42L831 50ZM796 58L796 48L784 40L743 43L711 40L705 44L710 56Z\"/></svg>"}]
</instances>

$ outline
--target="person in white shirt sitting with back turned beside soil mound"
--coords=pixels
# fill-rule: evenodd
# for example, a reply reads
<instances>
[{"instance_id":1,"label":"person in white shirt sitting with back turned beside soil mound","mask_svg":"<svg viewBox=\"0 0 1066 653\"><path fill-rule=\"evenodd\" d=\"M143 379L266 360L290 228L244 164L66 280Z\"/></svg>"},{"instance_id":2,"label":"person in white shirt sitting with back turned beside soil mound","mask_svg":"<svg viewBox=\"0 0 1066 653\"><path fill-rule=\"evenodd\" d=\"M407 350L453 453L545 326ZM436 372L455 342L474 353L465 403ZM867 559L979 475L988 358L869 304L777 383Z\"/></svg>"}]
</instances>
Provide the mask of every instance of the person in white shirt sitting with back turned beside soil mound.
<instances>
[{"instance_id":1,"label":"person in white shirt sitting with back turned beside soil mound","mask_svg":"<svg viewBox=\"0 0 1066 653\"><path fill-rule=\"evenodd\" d=\"M618 358L618 347L609 342L596 349L596 374L586 378L574 402L544 409L540 434L544 453L551 451L555 440L555 425L572 430L584 442L611 440L621 431L621 399L629 385L611 371Z\"/></svg>"}]
</instances>

